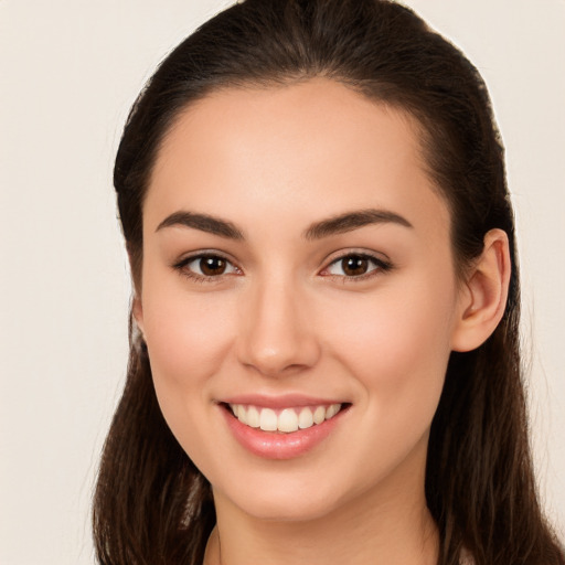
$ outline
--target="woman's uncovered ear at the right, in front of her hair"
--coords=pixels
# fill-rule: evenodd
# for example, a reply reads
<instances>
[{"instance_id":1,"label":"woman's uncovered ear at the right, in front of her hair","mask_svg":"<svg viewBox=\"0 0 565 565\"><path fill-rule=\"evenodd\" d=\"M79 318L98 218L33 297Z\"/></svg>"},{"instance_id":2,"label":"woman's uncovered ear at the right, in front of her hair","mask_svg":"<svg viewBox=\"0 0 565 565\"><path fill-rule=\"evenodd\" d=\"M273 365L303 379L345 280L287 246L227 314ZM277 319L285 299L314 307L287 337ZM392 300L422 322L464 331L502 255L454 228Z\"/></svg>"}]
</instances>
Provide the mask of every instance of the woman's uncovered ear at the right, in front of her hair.
<instances>
[{"instance_id":1,"label":"woman's uncovered ear at the right, in front of her hair","mask_svg":"<svg viewBox=\"0 0 565 565\"><path fill-rule=\"evenodd\" d=\"M461 289L451 338L454 351L477 349L494 331L507 307L510 269L508 235L502 230L491 230Z\"/></svg>"}]
</instances>

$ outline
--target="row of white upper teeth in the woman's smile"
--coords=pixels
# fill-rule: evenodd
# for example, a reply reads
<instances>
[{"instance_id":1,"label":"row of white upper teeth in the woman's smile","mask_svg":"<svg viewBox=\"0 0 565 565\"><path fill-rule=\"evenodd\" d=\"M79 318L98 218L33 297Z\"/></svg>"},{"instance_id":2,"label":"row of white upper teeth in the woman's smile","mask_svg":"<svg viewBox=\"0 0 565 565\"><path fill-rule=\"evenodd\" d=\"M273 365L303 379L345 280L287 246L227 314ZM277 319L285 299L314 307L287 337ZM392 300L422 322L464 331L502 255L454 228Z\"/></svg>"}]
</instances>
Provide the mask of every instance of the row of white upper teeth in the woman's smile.
<instances>
[{"instance_id":1,"label":"row of white upper teeth in the woman's smile","mask_svg":"<svg viewBox=\"0 0 565 565\"><path fill-rule=\"evenodd\" d=\"M264 431L281 431L291 434L298 429L307 429L313 425L333 418L341 409L341 404L329 406L285 408L277 414L271 408L230 404L234 416L246 426L260 428Z\"/></svg>"}]
</instances>

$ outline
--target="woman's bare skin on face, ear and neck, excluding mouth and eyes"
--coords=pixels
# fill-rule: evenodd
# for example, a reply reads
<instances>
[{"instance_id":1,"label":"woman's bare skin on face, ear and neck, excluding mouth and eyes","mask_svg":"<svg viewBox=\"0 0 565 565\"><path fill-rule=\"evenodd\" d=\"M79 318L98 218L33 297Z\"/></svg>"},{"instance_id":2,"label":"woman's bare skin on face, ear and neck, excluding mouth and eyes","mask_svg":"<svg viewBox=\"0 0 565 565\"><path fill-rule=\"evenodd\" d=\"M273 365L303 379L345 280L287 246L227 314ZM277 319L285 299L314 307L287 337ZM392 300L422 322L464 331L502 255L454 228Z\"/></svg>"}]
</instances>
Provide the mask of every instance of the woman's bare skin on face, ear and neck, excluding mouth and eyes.
<instances>
[{"instance_id":1,"label":"woman's bare skin on face, ear and neck, excluding mouth and eyes","mask_svg":"<svg viewBox=\"0 0 565 565\"><path fill-rule=\"evenodd\" d=\"M409 225L305 237L369 209ZM162 225L178 212L222 218L241 237ZM458 280L449 226L414 121L340 84L224 89L177 120L143 206L134 312L163 415L213 487L205 563L436 562L429 426L450 352L494 329L509 278L493 231ZM203 250L228 260L223 275L179 266ZM355 253L377 259L363 277L338 260ZM320 445L274 460L226 426L218 402L242 393L351 406Z\"/></svg>"}]
</instances>

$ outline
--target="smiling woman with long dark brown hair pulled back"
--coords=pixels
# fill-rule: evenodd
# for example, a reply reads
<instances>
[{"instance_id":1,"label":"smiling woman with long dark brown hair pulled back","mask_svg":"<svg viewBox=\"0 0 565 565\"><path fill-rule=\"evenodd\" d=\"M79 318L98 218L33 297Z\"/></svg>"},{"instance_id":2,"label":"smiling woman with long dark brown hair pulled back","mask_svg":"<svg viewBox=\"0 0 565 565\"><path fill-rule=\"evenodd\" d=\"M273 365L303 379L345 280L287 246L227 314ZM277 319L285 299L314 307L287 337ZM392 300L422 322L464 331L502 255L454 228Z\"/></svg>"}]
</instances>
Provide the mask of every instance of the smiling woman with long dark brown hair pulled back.
<instances>
[{"instance_id":1,"label":"smiling woman with long dark brown hair pulled back","mask_svg":"<svg viewBox=\"0 0 565 565\"><path fill-rule=\"evenodd\" d=\"M454 46L392 2L246 0L161 64L115 186L100 563L564 563L503 150Z\"/></svg>"}]
</instances>

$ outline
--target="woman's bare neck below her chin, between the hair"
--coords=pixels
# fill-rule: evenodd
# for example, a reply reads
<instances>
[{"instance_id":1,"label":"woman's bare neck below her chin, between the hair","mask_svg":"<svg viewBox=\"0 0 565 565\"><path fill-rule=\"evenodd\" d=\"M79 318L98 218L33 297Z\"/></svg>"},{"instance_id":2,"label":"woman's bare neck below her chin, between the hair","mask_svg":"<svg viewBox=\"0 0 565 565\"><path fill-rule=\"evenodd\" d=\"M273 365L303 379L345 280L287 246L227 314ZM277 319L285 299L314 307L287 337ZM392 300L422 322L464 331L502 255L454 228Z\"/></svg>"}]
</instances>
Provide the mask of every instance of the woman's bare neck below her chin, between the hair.
<instances>
[{"instance_id":1,"label":"woman's bare neck below her chin, between the hair","mask_svg":"<svg viewBox=\"0 0 565 565\"><path fill-rule=\"evenodd\" d=\"M214 491L217 524L204 564L434 565L438 533L426 507L424 473L411 479L382 484L308 521L260 520Z\"/></svg>"}]
</instances>

